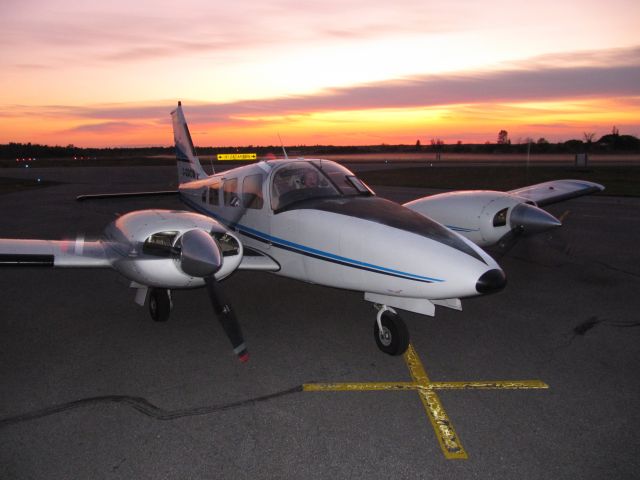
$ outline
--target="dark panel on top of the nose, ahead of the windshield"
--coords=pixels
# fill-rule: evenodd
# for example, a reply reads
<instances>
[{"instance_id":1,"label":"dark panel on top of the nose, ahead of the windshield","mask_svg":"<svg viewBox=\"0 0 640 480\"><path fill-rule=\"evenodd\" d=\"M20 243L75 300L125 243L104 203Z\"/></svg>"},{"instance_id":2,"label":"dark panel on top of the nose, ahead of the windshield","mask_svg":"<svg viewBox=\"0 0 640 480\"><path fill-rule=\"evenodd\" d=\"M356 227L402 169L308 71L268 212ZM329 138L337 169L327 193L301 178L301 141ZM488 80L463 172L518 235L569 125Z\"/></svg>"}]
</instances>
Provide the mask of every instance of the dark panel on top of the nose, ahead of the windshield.
<instances>
[{"instance_id":1,"label":"dark panel on top of the nose, ahead of the windshield","mask_svg":"<svg viewBox=\"0 0 640 480\"><path fill-rule=\"evenodd\" d=\"M338 213L349 217L361 218L371 222L380 223L389 227L415 233L436 242L455 248L487 263L473 248L467 245L447 227L420 215L395 202L380 197L339 197L339 198L315 198L303 200L285 207L287 210L321 210L324 212Z\"/></svg>"}]
</instances>

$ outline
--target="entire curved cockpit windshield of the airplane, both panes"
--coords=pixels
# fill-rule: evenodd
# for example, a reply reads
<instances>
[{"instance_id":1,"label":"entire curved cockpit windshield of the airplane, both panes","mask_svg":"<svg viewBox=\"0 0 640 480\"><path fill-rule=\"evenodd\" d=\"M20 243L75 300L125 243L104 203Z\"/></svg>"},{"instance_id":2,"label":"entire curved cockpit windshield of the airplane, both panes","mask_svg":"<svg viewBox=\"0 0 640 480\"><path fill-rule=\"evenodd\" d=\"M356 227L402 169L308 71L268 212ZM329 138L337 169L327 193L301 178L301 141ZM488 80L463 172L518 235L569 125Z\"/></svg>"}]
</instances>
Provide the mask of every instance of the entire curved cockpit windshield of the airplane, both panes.
<instances>
[{"instance_id":1,"label":"entire curved cockpit windshield of the airplane, both panes","mask_svg":"<svg viewBox=\"0 0 640 480\"><path fill-rule=\"evenodd\" d=\"M373 192L346 168L330 161L292 162L278 169L271 184L271 207L313 198L371 195Z\"/></svg>"}]
</instances>

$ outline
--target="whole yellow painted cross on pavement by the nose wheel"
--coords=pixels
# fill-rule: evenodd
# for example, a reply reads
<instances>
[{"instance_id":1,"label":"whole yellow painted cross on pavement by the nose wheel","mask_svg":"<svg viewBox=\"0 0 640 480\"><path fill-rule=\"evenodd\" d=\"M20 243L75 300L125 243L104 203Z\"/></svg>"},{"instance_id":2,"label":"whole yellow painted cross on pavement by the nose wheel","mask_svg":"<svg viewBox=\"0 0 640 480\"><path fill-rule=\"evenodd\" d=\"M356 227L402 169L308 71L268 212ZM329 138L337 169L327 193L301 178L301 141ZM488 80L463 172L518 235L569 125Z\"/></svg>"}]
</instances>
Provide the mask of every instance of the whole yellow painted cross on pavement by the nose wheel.
<instances>
[{"instance_id":1,"label":"whole yellow painted cross on pavement by the nose wheel","mask_svg":"<svg viewBox=\"0 0 640 480\"><path fill-rule=\"evenodd\" d=\"M468 458L460 438L453 428L436 390L519 390L541 389L549 386L540 380L490 380L480 382L432 382L420 361L413 345L404 354L412 382L374 382L374 383L307 383L305 392L350 392L350 391L391 391L415 390L422 400L429 421L440 443L444 456L449 459Z\"/></svg>"}]
</instances>

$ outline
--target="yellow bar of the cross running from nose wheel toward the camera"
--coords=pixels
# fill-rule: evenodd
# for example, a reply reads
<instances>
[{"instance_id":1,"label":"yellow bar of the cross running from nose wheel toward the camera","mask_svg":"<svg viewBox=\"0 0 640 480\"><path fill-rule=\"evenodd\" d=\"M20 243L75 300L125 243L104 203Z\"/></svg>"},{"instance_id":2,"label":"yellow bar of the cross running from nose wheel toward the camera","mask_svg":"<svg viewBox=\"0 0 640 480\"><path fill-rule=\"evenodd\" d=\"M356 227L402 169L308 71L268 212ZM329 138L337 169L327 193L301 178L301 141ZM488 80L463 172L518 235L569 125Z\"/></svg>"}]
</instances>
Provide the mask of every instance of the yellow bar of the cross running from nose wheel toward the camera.
<instances>
[{"instance_id":1,"label":"yellow bar of the cross running from nose wheel toward the camera","mask_svg":"<svg viewBox=\"0 0 640 480\"><path fill-rule=\"evenodd\" d=\"M414 382L422 387L428 387L431 382L420 361L420 357L418 357L418 353L411 344L404 353L404 361L407 367L409 367L409 372ZM468 458L467 452L464 450L462 443L460 443L451 419L447 415L436 392L426 388L419 390L418 395L420 396L420 400L422 400L422 404L427 412L431 426L436 433L436 438L438 439L444 456L449 460Z\"/></svg>"}]
</instances>

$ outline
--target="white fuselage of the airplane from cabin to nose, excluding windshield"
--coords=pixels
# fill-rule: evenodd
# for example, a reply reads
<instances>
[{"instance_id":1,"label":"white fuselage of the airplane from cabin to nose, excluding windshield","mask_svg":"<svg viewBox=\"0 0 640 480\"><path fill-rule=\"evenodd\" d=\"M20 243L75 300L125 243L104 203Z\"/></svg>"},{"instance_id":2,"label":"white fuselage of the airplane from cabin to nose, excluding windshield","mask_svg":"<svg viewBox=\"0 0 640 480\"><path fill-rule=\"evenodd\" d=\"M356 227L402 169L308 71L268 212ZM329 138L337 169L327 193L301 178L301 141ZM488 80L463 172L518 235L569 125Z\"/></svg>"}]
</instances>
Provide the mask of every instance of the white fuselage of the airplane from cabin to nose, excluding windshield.
<instances>
[{"instance_id":1,"label":"white fuselage of the airplane from cabin to nose, excluding windshield","mask_svg":"<svg viewBox=\"0 0 640 480\"><path fill-rule=\"evenodd\" d=\"M235 230L245 249L275 260L278 274L306 282L438 300L478 295L479 277L499 270L472 242L369 194L308 199L280 208L278 171L292 170L295 162L301 167L324 162L321 168L350 173L326 160L260 162L183 184L181 196L193 209ZM261 200L251 206L243 186L249 185L255 196L257 178Z\"/></svg>"}]
</instances>

